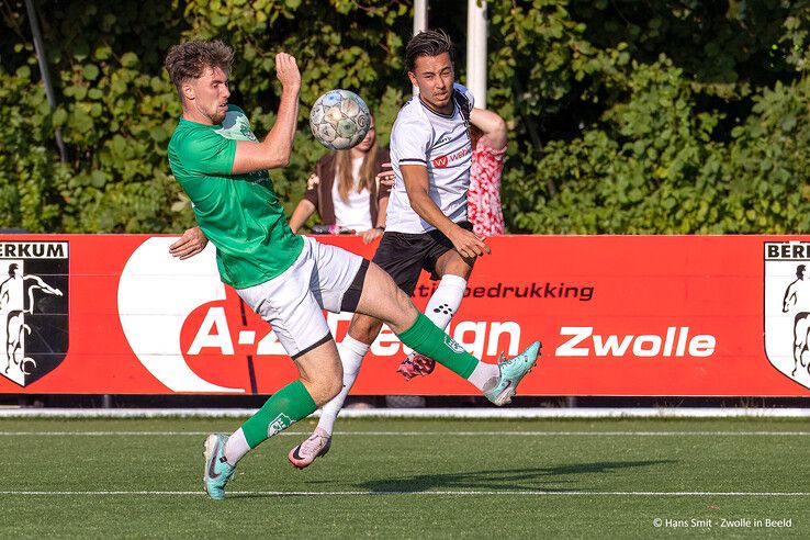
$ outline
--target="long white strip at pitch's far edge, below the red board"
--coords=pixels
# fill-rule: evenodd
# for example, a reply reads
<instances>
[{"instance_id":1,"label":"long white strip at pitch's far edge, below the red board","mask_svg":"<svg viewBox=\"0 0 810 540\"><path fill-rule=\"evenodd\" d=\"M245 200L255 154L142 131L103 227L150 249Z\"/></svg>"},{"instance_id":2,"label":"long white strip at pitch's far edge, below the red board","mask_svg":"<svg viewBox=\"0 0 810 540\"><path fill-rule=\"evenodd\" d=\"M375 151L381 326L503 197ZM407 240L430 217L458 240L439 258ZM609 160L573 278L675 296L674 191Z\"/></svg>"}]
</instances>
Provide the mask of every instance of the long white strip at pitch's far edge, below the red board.
<instances>
[{"instance_id":1,"label":"long white strip at pitch's far edge, below the red board","mask_svg":"<svg viewBox=\"0 0 810 540\"><path fill-rule=\"evenodd\" d=\"M0 418L244 418L255 408L20 408L0 407ZM313 416L317 417L319 413ZM572 407L572 408L347 408L341 418L810 418L810 408Z\"/></svg>"}]
</instances>

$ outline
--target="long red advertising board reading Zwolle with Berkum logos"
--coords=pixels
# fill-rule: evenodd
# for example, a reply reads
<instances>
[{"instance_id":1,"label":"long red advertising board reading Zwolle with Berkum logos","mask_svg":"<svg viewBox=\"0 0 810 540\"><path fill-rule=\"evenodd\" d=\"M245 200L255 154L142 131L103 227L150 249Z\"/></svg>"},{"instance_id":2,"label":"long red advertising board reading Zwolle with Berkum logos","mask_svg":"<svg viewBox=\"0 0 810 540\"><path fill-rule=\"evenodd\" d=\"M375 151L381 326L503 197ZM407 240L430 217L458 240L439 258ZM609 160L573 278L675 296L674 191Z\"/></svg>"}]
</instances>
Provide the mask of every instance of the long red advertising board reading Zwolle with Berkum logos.
<instances>
[{"instance_id":1,"label":"long red advertising board reading Zwolle with Berkum logos","mask_svg":"<svg viewBox=\"0 0 810 540\"><path fill-rule=\"evenodd\" d=\"M175 237L0 236L0 393L271 394L296 376L271 328ZM371 256L375 244L318 237ZM504 236L449 333L494 362L543 344L522 395L810 395L810 237ZM434 283L423 274L414 301ZM337 341L349 314L327 314ZM443 368L405 382L384 330L355 394L474 394Z\"/></svg>"}]
</instances>

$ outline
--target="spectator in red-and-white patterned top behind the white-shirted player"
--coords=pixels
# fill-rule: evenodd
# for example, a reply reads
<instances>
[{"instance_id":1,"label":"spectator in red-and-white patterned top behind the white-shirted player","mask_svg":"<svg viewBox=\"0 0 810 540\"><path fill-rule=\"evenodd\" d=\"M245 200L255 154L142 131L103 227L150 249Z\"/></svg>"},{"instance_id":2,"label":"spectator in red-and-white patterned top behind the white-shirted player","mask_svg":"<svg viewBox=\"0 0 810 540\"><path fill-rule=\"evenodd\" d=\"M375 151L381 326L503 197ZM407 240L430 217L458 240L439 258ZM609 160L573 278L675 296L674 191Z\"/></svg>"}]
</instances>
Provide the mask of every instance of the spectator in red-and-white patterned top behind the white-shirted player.
<instances>
[{"instance_id":1,"label":"spectator in red-and-white patterned top behind the white-shirted player","mask_svg":"<svg viewBox=\"0 0 810 540\"><path fill-rule=\"evenodd\" d=\"M502 235L500 173L506 156L506 122L483 109L473 110L471 122L473 156L466 195L468 220L479 236Z\"/></svg>"}]
</instances>

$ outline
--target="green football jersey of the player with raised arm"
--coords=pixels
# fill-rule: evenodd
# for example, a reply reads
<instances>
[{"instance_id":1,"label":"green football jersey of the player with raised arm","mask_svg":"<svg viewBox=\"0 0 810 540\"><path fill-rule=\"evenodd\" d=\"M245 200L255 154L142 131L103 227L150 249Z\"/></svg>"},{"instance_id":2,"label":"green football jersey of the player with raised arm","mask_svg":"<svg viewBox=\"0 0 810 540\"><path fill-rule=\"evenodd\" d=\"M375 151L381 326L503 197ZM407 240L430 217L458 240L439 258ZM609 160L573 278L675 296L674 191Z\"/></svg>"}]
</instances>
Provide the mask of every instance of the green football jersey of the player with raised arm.
<instances>
[{"instance_id":1,"label":"green football jersey of the player with raised arm","mask_svg":"<svg viewBox=\"0 0 810 540\"><path fill-rule=\"evenodd\" d=\"M230 173L237 140L256 140L238 106L228 105L222 125L180 119L169 165L194 203L196 223L216 246L222 280L245 289L290 268L304 239L290 229L267 170Z\"/></svg>"}]
</instances>

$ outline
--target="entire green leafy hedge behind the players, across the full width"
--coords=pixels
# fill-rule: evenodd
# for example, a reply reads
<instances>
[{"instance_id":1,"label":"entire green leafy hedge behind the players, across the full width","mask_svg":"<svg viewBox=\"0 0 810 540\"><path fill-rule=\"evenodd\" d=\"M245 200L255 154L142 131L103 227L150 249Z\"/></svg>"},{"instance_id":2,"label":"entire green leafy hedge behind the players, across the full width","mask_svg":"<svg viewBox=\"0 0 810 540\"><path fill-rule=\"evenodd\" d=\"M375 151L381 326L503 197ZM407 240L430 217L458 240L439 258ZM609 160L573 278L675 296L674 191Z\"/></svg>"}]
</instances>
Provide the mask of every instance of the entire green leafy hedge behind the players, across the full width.
<instances>
[{"instance_id":1,"label":"entire green leafy hedge behind the players, across the full width","mask_svg":"<svg viewBox=\"0 0 810 540\"><path fill-rule=\"evenodd\" d=\"M430 2L464 74L464 0ZM291 210L324 154L308 106L359 92L383 143L410 93L408 0L145 0L37 5L52 111L22 0L0 0L0 226L178 232L193 223L166 145L180 115L168 47L236 50L232 101L272 126L279 49L303 70ZM807 233L810 2L491 0L488 106L510 126L511 232ZM55 131L65 140L63 162Z\"/></svg>"}]
</instances>

